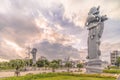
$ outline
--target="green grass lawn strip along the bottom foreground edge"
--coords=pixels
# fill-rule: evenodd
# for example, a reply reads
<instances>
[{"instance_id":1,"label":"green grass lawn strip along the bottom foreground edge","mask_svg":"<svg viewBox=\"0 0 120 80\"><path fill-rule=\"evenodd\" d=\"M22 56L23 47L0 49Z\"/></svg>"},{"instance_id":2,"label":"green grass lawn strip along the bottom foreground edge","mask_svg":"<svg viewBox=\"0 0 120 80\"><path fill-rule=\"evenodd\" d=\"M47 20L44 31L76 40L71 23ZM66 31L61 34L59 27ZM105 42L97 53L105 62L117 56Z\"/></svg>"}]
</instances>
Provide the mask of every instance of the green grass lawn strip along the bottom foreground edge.
<instances>
[{"instance_id":1,"label":"green grass lawn strip along the bottom foreground edge","mask_svg":"<svg viewBox=\"0 0 120 80\"><path fill-rule=\"evenodd\" d=\"M0 80L116 80L114 77L86 74L69 73L47 73L37 75L26 75L21 77L10 77Z\"/></svg>"}]
</instances>

